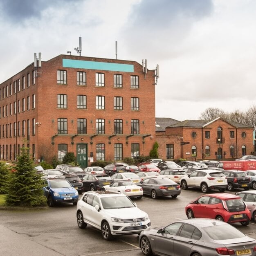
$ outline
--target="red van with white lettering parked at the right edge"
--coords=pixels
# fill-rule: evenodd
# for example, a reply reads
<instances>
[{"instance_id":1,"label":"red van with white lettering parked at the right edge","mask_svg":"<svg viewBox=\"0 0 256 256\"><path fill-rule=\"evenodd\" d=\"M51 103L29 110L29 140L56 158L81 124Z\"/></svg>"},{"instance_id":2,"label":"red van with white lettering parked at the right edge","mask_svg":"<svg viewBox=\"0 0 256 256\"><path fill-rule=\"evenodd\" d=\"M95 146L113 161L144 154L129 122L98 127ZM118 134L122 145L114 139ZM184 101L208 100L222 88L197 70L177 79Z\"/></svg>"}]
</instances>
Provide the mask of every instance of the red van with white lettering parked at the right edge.
<instances>
[{"instance_id":1,"label":"red van with white lettering parked at the right edge","mask_svg":"<svg viewBox=\"0 0 256 256\"><path fill-rule=\"evenodd\" d=\"M220 161L216 169L240 171L256 170L256 161Z\"/></svg>"}]
</instances>

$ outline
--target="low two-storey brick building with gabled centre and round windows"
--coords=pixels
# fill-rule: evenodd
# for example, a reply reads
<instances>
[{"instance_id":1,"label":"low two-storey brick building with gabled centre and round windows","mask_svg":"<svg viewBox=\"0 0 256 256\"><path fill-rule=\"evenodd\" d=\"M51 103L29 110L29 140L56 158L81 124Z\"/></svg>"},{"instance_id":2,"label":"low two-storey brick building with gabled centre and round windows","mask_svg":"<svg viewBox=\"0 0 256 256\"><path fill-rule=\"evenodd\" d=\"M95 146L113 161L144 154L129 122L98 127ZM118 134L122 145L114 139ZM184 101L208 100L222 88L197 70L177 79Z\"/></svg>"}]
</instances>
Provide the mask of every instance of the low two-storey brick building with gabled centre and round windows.
<instances>
[{"instance_id":1,"label":"low two-storey brick building with gabled centre and round windows","mask_svg":"<svg viewBox=\"0 0 256 256\"><path fill-rule=\"evenodd\" d=\"M236 159L254 154L254 128L216 118L212 121L156 118L163 159ZM161 147L160 147L161 146ZM169 148L173 154L168 155ZM166 154L164 154L166 151Z\"/></svg>"}]
</instances>

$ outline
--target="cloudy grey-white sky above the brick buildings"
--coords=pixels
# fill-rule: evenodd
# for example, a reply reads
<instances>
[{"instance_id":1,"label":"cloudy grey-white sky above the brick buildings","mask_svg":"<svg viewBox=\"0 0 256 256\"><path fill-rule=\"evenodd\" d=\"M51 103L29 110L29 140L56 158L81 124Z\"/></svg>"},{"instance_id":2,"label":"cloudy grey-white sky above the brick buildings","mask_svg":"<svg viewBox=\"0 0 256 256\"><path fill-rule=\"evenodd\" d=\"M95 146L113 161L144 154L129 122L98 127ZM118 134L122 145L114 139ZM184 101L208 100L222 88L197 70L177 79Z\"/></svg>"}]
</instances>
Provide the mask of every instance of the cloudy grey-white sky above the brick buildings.
<instances>
[{"instance_id":1,"label":"cloudy grey-white sky above the brick buildings","mask_svg":"<svg viewBox=\"0 0 256 256\"><path fill-rule=\"evenodd\" d=\"M156 117L256 104L255 0L0 0L0 83L79 46L160 67Z\"/></svg>"}]
</instances>

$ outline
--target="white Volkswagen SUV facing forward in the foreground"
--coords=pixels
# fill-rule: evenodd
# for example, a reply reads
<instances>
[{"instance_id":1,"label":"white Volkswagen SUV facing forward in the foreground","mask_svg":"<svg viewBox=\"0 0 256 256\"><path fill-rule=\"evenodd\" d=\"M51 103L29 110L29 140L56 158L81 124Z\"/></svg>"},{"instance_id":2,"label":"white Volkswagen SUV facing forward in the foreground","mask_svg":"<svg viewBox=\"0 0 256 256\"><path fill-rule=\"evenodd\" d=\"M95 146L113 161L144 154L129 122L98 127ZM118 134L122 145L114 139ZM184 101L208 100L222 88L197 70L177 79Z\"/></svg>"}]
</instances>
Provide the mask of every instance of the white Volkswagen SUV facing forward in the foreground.
<instances>
[{"instance_id":1,"label":"white Volkswagen SUV facing forward in the foreground","mask_svg":"<svg viewBox=\"0 0 256 256\"><path fill-rule=\"evenodd\" d=\"M126 195L113 191L85 192L77 203L78 227L87 224L101 230L105 240L116 235L140 234L150 227L148 214Z\"/></svg>"}]
</instances>

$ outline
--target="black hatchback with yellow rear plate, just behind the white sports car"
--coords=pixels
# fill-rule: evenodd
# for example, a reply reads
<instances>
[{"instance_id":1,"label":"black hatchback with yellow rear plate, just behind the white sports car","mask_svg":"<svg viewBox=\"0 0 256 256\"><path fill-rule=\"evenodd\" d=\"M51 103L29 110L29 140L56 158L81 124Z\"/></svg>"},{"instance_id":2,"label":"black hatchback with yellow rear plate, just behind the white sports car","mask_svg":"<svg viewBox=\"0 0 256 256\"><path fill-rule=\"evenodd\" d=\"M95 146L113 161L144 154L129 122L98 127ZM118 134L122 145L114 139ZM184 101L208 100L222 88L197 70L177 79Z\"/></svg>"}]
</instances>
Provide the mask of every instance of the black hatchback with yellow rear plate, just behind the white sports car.
<instances>
[{"instance_id":1,"label":"black hatchback with yellow rear plate, just behind the white sports car","mask_svg":"<svg viewBox=\"0 0 256 256\"><path fill-rule=\"evenodd\" d=\"M82 179L83 191L101 190L103 186L110 185L114 180L106 174L88 174Z\"/></svg>"}]
</instances>

